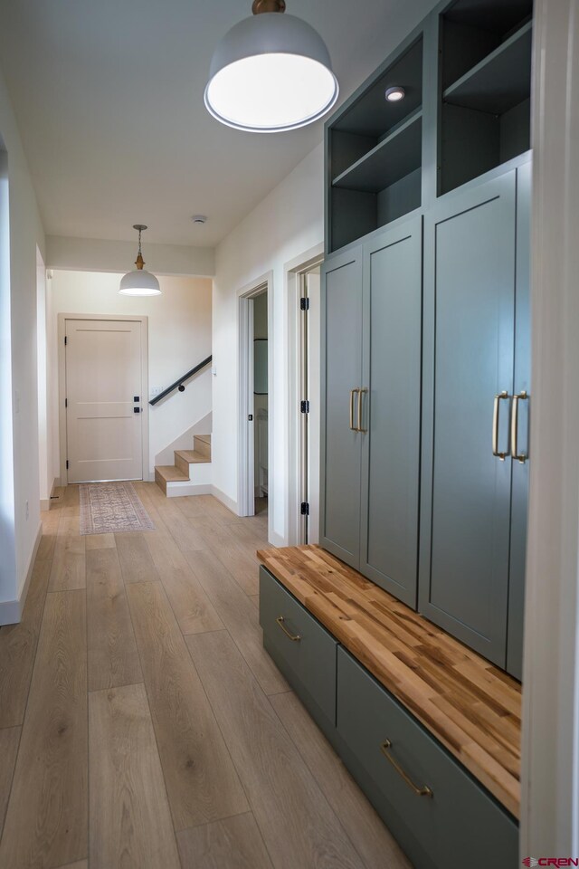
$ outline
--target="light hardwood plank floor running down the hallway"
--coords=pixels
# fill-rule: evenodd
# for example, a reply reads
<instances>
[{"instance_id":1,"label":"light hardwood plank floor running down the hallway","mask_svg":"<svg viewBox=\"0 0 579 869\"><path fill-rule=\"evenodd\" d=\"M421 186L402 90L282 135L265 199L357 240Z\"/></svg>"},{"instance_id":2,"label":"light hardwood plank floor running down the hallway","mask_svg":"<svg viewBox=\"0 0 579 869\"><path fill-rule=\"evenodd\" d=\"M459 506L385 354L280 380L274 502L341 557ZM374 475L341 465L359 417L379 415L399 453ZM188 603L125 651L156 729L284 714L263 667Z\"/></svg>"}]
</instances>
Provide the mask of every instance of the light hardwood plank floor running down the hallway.
<instances>
[{"instance_id":1,"label":"light hardwood plank floor running down the hallway","mask_svg":"<svg viewBox=\"0 0 579 869\"><path fill-rule=\"evenodd\" d=\"M135 486L154 531L60 490L0 628L1 869L408 869L262 649L267 515Z\"/></svg>"}]
</instances>

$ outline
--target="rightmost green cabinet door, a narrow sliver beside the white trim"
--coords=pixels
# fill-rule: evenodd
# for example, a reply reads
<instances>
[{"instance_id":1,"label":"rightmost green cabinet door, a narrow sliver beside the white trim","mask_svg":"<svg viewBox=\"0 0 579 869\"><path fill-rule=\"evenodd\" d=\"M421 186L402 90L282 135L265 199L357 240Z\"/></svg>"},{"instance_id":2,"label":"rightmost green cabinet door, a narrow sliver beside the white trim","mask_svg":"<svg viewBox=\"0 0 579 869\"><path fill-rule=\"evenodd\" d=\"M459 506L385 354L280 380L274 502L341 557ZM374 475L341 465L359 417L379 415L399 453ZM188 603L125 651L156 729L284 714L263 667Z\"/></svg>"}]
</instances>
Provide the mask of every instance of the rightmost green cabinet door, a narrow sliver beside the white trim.
<instances>
[{"instance_id":1,"label":"rightmost green cabinet door, a narrow sliver beside the white trim","mask_svg":"<svg viewBox=\"0 0 579 869\"><path fill-rule=\"evenodd\" d=\"M531 164L517 169L517 299L515 306L515 395L518 399L517 446L520 460L512 460L510 575L508 580L507 670L523 678L523 621L527 549L527 500L530 456L529 407L531 372L530 326L530 215Z\"/></svg>"}]
</instances>

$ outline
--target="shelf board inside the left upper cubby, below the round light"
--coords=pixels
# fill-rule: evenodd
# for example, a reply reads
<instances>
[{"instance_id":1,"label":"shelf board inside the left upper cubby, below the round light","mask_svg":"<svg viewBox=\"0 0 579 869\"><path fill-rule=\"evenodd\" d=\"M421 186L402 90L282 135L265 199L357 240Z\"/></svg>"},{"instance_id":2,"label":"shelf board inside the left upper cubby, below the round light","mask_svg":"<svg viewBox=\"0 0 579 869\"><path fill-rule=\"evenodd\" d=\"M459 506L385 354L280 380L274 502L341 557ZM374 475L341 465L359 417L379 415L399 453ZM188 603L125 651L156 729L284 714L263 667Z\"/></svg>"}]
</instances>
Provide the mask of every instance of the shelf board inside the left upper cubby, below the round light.
<instances>
[{"instance_id":1,"label":"shelf board inside the left upper cubby, below the round light","mask_svg":"<svg viewBox=\"0 0 579 869\"><path fill-rule=\"evenodd\" d=\"M417 109L375 148L334 178L332 186L378 193L419 168L421 156L422 110Z\"/></svg>"}]
</instances>

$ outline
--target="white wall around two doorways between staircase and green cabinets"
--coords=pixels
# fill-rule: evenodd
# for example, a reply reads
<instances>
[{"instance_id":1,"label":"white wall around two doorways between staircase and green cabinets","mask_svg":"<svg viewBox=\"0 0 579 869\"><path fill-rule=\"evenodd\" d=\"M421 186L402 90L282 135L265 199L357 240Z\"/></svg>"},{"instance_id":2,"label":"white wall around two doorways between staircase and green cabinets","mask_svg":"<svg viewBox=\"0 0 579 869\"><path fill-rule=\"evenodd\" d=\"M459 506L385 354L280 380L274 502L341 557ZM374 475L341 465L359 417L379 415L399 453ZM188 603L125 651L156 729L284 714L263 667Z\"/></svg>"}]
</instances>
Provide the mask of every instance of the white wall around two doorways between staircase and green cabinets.
<instances>
[{"instance_id":1,"label":"white wall around two doorways between staircase and green cabinets","mask_svg":"<svg viewBox=\"0 0 579 869\"><path fill-rule=\"evenodd\" d=\"M269 371L271 542L287 539L287 310L284 265L320 244L324 235L323 145L271 191L233 233L218 245L214 279L214 485L238 501L238 303L237 292L273 272L273 369Z\"/></svg>"}]
</instances>

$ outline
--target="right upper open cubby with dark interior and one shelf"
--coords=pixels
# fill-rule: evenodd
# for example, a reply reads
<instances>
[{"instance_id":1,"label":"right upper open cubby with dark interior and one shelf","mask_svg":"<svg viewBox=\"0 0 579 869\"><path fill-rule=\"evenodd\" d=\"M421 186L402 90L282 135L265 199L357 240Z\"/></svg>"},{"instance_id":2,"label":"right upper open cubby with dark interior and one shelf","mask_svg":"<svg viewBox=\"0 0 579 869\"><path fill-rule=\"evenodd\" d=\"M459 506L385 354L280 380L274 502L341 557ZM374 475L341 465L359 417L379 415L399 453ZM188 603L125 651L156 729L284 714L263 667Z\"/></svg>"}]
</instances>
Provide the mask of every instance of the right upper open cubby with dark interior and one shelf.
<instances>
[{"instance_id":1,"label":"right upper open cubby with dark interior and one shelf","mask_svg":"<svg viewBox=\"0 0 579 869\"><path fill-rule=\"evenodd\" d=\"M441 16L438 193L530 147L532 0L458 0Z\"/></svg>"}]
</instances>

